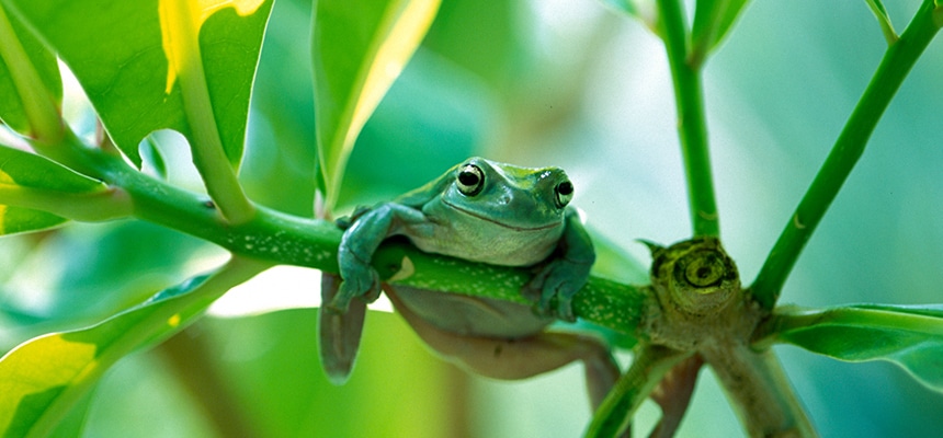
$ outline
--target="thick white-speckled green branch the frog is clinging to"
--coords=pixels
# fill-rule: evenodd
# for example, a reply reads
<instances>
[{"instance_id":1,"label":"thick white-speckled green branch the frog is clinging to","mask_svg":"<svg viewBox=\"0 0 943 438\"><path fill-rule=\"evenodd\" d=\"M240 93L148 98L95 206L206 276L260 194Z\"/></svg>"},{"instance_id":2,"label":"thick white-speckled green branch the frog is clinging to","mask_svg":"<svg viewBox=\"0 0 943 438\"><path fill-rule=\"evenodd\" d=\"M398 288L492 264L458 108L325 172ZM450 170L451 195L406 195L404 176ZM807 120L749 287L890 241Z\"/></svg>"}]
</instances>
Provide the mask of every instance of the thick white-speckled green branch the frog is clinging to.
<instances>
[{"instance_id":1,"label":"thick white-speckled green branch the frog is clinging to","mask_svg":"<svg viewBox=\"0 0 943 438\"><path fill-rule=\"evenodd\" d=\"M330 221L306 219L255 206L255 215L241 224L223 220L208 198L157 181L128 166L120 157L99 149L84 148L78 138L57 147L60 162L105 182L115 205L109 198L99 200L105 211L127 212L136 218L164 226L208 242L235 254L277 264L307 266L338 273L338 245L342 231ZM25 206L69 219L90 219L83 210L65 208L80 204L79 196L23 199L4 197L0 204ZM91 218L94 219L94 218ZM526 268L471 263L433 255L407 243L390 242L380 247L373 261L382 278L389 283L479 297L527 302L520 293L531 278ZM587 321L635 336L650 302L648 288L623 285L592 277L573 299L576 313Z\"/></svg>"}]
</instances>

